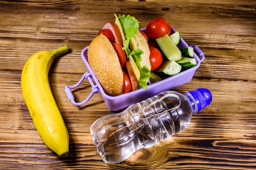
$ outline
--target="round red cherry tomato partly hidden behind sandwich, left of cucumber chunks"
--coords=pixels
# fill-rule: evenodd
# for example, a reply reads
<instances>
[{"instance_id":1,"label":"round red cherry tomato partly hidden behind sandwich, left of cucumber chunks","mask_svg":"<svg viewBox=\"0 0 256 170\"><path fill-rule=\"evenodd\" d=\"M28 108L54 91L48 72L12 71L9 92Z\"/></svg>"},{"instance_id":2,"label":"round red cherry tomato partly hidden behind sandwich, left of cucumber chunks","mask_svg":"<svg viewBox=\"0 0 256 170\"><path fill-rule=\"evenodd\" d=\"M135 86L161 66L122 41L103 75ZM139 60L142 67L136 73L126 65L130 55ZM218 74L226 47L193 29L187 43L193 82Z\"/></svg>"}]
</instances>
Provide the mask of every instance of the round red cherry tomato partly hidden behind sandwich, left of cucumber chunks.
<instances>
[{"instance_id":1,"label":"round red cherry tomato partly hidden behind sandwich, left of cucumber chunks","mask_svg":"<svg viewBox=\"0 0 256 170\"><path fill-rule=\"evenodd\" d=\"M163 62L163 57L161 52L156 49L155 47L150 46L150 64L151 64L151 71L155 71Z\"/></svg>"}]
</instances>

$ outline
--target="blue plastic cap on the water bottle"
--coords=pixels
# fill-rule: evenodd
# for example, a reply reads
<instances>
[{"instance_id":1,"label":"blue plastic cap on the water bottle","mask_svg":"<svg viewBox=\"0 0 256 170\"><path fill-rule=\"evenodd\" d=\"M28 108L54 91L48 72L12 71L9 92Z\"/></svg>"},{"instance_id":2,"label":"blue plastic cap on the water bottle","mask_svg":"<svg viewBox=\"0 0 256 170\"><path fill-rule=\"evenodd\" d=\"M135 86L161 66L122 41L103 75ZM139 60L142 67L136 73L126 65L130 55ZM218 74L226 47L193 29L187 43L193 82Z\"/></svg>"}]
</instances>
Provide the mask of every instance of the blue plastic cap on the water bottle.
<instances>
[{"instance_id":1,"label":"blue plastic cap on the water bottle","mask_svg":"<svg viewBox=\"0 0 256 170\"><path fill-rule=\"evenodd\" d=\"M205 108L206 106L209 106L209 104L212 101L211 92L207 88L198 88L194 91L189 91L198 106L198 112Z\"/></svg>"}]
</instances>

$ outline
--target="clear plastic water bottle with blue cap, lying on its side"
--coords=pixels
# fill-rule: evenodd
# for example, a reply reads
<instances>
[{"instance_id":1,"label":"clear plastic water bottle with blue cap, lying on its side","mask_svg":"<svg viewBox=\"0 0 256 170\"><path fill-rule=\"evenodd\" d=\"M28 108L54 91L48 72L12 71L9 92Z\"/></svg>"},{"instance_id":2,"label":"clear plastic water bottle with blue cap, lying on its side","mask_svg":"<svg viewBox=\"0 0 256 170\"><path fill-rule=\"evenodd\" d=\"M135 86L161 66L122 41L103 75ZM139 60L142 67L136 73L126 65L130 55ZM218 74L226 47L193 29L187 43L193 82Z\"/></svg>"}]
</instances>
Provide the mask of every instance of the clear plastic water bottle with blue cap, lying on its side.
<instances>
[{"instance_id":1,"label":"clear plastic water bottle with blue cap, lying on its side","mask_svg":"<svg viewBox=\"0 0 256 170\"><path fill-rule=\"evenodd\" d=\"M165 91L130 105L91 126L94 144L105 163L119 163L136 150L149 148L189 125L192 113L211 103L211 92L198 88L184 95Z\"/></svg>"}]
</instances>

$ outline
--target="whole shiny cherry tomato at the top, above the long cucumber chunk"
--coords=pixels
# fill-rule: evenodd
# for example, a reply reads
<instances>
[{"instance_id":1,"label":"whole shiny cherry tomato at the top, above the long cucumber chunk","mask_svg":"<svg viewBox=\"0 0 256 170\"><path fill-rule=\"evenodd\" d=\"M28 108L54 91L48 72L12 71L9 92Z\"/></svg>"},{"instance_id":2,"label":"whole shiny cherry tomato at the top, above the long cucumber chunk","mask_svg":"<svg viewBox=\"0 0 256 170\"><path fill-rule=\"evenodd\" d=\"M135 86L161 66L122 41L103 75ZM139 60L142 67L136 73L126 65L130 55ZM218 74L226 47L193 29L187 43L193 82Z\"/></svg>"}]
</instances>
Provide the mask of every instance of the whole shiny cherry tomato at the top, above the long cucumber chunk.
<instances>
[{"instance_id":1,"label":"whole shiny cherry tomato at the top, above the long cucumber chunk","mask_svg":"<svg viewBox=\"0 0 256 170\"><path fill-rule=\"evenodd\" d=\"M146 35L152 40L155 40L164 34L170 35L170 33L171 26L169 22L161 17L151 20L146 26Z\"/></svg>"}]
</instances>

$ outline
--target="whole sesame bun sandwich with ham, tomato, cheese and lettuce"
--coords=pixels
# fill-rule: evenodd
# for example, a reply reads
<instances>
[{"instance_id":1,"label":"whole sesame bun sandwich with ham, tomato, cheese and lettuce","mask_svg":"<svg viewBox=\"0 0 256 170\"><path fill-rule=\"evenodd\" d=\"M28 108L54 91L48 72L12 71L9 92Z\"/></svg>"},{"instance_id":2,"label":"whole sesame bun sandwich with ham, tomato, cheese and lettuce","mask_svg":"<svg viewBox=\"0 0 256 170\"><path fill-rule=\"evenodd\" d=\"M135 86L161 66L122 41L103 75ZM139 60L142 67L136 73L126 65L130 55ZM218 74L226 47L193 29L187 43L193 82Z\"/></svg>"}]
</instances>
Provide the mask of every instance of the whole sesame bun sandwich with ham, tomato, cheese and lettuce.
<instances>
[{"instance_id":1,"label":"whole sesame bun sandwich with ham, tomato, cheese and lettuce","mask_svg":"<svg viewBox=\"0 0 256 170\"><path fill-rule=\"evenodd\" d=\"M130 15L115 15L88 47L88 63L107 95L117 96L147 88L150 50L139 22Z\"/></svg>"}]
</instances>

